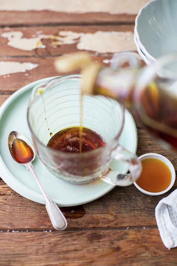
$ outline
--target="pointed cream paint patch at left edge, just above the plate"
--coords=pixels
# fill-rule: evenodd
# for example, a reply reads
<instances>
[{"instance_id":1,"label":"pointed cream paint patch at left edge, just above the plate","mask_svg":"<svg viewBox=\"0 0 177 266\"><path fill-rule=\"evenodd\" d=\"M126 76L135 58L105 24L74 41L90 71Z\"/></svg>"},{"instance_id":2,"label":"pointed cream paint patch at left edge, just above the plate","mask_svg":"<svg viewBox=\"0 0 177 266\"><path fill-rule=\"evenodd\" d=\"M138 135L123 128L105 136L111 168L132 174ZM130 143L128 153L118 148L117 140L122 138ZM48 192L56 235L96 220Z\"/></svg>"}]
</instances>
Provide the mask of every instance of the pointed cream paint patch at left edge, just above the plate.
<instances>
[{"instance_id":1,"label":"pointed cream paint patch at left edge, just above the plate","mask_svg":"<svg viewBox=\"0 0 177 266\"><path fill-rule=\"evenodd\" d=\"M32 64L29 62L20 63L14 61L0 61L0 76L4 76L5 78L5 75L7 74L25 72L26 70L31 70L38 66L38 64Z\"/></svg>"}]
</instances>

